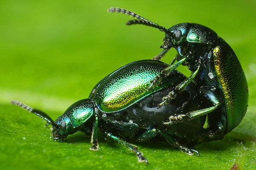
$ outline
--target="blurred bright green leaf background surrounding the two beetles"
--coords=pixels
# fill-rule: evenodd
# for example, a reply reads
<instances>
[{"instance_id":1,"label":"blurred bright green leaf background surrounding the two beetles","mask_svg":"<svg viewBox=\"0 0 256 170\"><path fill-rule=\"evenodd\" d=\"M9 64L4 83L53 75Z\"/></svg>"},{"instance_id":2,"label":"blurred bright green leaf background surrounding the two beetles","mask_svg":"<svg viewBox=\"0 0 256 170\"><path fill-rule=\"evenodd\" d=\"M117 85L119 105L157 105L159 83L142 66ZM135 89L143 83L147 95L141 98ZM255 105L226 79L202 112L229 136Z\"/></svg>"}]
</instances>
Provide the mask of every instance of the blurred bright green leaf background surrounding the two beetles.
<instances>
[{"instance_id":1,"label":"blurred bright green leaf background surrounding the two beetles","mask_svg":"<svg viewBox=\"0 0 256 170\"><path fill-rule=\"evenodd\" d=\"M167 28L183 22L212 28L236 52L249 86L249 107L221 141L200 144L199 157L167 143L136 143L148 165L134 153L100 135L100 150L90 136L76 133L64 142L50 138L45 121L11 99L40 108L53 119L87 98L93 86L117 68L150 59L161 50L163 32L125 26L131 18L110 14L121 7ZM1 0L0 1L0 169L256 169L256 3L253 0ZM170 50L164 62L176 54ZM179 67L189 75L186 68Z\"/></svg>"}]
</instances>

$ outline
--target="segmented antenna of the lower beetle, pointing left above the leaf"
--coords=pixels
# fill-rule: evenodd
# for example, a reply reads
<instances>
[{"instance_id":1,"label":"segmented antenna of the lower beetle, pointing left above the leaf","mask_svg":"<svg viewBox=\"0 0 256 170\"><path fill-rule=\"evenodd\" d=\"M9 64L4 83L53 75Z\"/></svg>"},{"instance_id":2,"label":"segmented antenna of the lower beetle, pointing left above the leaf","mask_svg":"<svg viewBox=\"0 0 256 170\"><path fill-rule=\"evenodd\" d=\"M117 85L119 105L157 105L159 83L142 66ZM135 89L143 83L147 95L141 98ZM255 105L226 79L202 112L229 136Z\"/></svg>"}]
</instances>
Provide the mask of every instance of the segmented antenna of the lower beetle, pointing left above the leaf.
<instances>
[{"instance_id":1,"label":"segmented antenna of the lower beetle, pointing left above the leaf","mask_svg":"<svg viewBox=\"0 0 256 170\"><path fill-rule=\"evenodd\" d=\"M12 105L20 106L21 108L25 109L26 111L34 113L37 116L40 116L41 118L46 120L48 124L50 124L52 126L55 126L55 127L58 127L58 125L55 124L55 122L52 120L52 118L49 115L47 115L46 113L44 113L43 111L40 111L38 109L33 109L30 106L25 105L24 103L19 102L17 100L12 100L11 103L12 103Z\"/></svg>"}]
</instances>

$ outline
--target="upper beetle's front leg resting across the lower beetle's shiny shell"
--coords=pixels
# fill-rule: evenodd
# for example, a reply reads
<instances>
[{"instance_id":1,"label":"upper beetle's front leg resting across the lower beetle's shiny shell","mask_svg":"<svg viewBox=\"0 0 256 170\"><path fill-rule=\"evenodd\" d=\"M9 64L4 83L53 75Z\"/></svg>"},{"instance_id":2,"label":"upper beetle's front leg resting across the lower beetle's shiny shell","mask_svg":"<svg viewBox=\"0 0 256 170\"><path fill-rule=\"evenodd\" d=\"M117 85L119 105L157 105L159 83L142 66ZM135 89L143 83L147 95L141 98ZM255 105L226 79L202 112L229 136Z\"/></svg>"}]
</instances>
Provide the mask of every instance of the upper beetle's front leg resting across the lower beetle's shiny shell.
<instances>
[{"instance_id":1,"label":"upper beetle's front leg resting across the lower beetle's shiny shell","mask_svg":"<svg viewBox=\"0 0 256 170\"><path fill-rule=\"evenodd\" d=\"M161 82L163 78L169 76L169 74L172 73L172 71L177 68L179 65L181 65L183 62L186 61L187 58L183 58L180 61L176 62L173 65L170 65L163 69L160 74L158 74L154 79L150 80L151 85L148 87L148 90L151 90L152 87L157 85L158 82Z\"/></svg>"}]
</instances>

